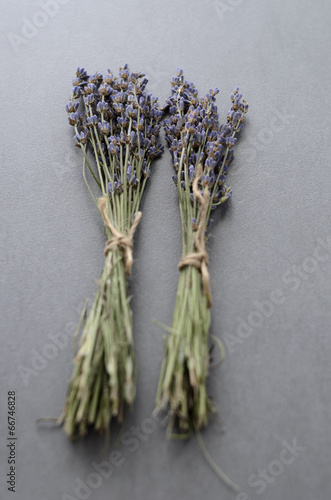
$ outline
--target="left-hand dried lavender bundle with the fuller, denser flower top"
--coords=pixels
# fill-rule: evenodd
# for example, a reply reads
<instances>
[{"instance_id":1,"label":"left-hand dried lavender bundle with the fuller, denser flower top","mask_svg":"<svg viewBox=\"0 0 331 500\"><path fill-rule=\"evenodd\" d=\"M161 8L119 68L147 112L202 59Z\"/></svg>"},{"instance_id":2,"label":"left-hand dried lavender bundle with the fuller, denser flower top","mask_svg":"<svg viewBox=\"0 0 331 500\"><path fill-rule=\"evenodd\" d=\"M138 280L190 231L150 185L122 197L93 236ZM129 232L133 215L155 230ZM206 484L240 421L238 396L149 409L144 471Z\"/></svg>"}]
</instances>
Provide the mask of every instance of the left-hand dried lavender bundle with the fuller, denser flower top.
<instances>
[{"instance_id":1,"label":"left-hand dried lavender bundle with the fuller, denser flower top","mask_svg":"<svg viewBox=\"0 0 331 500\"><path fill-rule=\"evenodd\" d=\"M66 106L76 145L83 153L84 180L107 233L104 269L91 311L83 318L80 348L61 416L71 438L84 435L88 427L108 430L111 418L121 421L125 405L131 406L135 397L127 280L133 235L141 217L139 205L151 163L163 150L156 142L163 112L157 98L146 94L147 79L143 77L131 73L127 65L118 76L110 70L89 76L78 68ZM93 166L88 149L94 154ZM98 200L87 182L86 166L101 191Z\"/></svg>"}]
</instances>

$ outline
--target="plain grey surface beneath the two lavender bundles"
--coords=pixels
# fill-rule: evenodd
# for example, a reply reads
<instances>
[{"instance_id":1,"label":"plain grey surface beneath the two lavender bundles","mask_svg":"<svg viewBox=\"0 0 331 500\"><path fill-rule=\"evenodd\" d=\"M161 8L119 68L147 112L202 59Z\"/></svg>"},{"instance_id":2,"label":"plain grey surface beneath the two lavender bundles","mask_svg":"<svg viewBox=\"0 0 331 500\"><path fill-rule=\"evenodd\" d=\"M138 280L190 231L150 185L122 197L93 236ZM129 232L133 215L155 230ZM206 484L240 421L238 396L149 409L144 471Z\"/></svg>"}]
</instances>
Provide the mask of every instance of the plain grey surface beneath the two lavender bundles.
<instances>
[{"instance_id":1,"label":"plain grey surface beneath the two lavender bundles","mask_svg":"<svg viewBox=\"0 0 331 500\"><path fill-rule=\"evenodd\" d=\"M93 298L104 233L64 106L77 66L116 71L125 62L146 72L161 102L179 66L201 94L221 89L222 118L235 85L250 104L229 174L233 198L215 217L209 240L212 333L238 338L237 318L247 321L255 301L275 290L286 300L233 352L226 348L226 361L211 372L209 392L224 427L211 423L203 437L246 493L242 498L329 499L331 246L323 250L319 238L331 236L330 2L69 0L57 6L45 18L38 2L2 2L1 499L76 498L75 479L85 481L91 462L103 457L102 439L72 445L60 429L35 423L61 411L72 340L26 383L18 367L31 368L33 350L42 353L48 336L76 323L85 298ZM26 32L29 23L44 26L29 25ZM24 38L14 43L22 30ZM135 237L139 375L129 431L153 410L163 332L151 318L170 324L175 301L180 221L171 175L165 152L154 165ZM324 261L314 264L316 248ZM294 281L298 270L304 274ZM12 389L18 395L15 494L5 485L6 394ZM158 427L134 453L120 446L124 464L90 498L236 497L210 470L195 439L168 442L164 434ZM282 441L294 439L305 449L258 495L249 476L279 458Z\"/></svg>"}]
</instances>

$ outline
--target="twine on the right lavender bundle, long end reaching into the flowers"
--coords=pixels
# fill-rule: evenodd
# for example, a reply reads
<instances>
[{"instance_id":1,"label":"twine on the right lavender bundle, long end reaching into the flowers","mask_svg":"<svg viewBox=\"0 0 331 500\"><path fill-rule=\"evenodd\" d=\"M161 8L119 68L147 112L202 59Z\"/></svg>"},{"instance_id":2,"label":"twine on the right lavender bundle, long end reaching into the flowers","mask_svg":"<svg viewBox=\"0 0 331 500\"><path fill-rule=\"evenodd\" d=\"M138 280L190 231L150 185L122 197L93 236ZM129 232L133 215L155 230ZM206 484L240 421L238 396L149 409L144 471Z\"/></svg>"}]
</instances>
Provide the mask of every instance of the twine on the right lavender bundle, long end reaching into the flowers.
<instances>
[{"instance_id":1,"label":"twine on the right lavender bundle, long end reaching into the flowers","mask_svg":"<svg viewBox=\"0 0 331 500\"><path fill-rule=\"evenodd\" d=\"M193 194L199 201L201 207L199 224L194 237L194 246L197 251L185 255L185 257L180 260L178 268L182 269L186 266L194 266L199 269L199 271L201 272L203 291L208 301L208 307L211 307L213 305L213 301L211 297L210 276L208 271L208 254L205 249L205 230L210 195L207 187L204 188L203 194L201 194L198 189L198 182L201 179L201 176L202 165L200 163L198 166L197 175L193 182Z\"/></svg>"}]
</instances>

